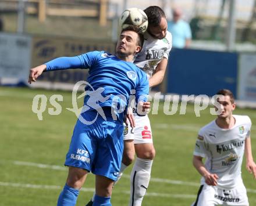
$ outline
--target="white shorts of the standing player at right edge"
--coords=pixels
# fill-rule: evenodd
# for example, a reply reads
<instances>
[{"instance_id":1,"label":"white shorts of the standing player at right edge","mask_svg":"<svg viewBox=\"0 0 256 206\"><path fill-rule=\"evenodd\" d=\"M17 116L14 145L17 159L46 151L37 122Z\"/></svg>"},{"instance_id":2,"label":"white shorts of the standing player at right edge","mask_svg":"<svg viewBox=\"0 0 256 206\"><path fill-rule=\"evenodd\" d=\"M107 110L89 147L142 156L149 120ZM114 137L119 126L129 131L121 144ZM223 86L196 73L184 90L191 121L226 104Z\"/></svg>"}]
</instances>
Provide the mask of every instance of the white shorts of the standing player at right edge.
<instances>
[{"instance_id":1,"label":"white shorts of the standing player at right edge","mask_svg":"<svg viewBox=\"0 0 256 206\"><path fill-rule=\"evenodd\" d=\"M234 189L224 190L216 186L201 185L193 206L239 205L248 206L246 187L243 182Z\"/></svg>"}]
</instances>

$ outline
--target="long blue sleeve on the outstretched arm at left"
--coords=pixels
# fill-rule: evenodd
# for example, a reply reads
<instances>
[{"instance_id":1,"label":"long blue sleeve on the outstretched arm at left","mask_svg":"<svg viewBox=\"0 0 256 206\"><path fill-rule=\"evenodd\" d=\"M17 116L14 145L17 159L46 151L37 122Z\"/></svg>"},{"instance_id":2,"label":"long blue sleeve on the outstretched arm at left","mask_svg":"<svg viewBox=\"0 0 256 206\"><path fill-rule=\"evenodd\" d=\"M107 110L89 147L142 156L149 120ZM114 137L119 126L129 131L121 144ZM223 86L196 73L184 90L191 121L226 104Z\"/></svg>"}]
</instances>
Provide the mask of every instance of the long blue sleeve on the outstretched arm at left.
<instances>
[{"instance_id":1,"label":"long blue sleeve on the outstretched arm at left","mask_svg":"<svg viewBox=\"0 0 256 206\"><path fill-rule=\"evenodd\" d=\"M45 63L47 71L66 70L69 68L91 68L97 61L100 52L88 52L80 56L59 57L50 62Z\"/></svg>"}]
</instances>

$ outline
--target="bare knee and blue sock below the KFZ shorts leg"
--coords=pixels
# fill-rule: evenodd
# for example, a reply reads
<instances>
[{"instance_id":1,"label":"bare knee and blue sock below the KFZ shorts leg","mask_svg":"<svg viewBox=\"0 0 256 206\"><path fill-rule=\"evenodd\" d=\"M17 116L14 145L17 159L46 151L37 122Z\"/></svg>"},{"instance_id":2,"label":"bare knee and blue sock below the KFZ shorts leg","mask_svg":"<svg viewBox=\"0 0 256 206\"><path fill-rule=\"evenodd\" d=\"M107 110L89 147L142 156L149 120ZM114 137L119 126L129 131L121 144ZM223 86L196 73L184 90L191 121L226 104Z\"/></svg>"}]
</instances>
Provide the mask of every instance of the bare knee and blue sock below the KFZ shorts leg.
<instances>
[{"instance_id":1,"label":"bare knee and blue sock below the KFZ shorts leg","mask_svg":"<svg viewBox=\"0 0 256 206\"><path fill-rule=\"evenodd\" d=\"M87 173L85 169L69 167L66 185L63 187L58 198L58 206L76 205L79 190L86 180Z\"/></svg>"}]
</instances>

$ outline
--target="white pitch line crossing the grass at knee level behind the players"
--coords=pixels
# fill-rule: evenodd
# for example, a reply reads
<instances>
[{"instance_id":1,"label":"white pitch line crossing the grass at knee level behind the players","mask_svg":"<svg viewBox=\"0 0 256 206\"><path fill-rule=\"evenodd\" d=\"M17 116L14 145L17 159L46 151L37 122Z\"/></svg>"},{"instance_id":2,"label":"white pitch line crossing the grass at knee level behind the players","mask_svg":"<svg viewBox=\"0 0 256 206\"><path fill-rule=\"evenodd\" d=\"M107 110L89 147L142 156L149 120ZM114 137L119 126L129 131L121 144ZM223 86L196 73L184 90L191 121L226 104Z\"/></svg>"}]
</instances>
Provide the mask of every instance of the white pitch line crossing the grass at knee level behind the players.
<instances>
[{"instance_id":1,"label":"white pitch line crossing the grass at knee level behind the players","mask_svg":"<svg viewBox=\"0 0 256 206\"><path fill-rule=\"evenodd\" d=\"M47 164L38 164L38 163L34 163L34 162L23 162L23 161L14 161L13 164L29 166L29 167L44 168L44 169L55 169L55 170L67 171L66 167L59 166L59 165L47 165ZM130 175L123 174L123 177L130 179ZM184 186L195 186L195 187L200 186L200 184L196 183L196 182L184 182L181 180L170 180L170 179L162 179L162 178L151 178L150 181L151 182L159 182L159 183L168 183L171 185L184 185ZM256 190L247 189L247 192L248 193L256 193ZM130 193L130 191L129 191L129 193Z\"/></svg>"}]
</instances>

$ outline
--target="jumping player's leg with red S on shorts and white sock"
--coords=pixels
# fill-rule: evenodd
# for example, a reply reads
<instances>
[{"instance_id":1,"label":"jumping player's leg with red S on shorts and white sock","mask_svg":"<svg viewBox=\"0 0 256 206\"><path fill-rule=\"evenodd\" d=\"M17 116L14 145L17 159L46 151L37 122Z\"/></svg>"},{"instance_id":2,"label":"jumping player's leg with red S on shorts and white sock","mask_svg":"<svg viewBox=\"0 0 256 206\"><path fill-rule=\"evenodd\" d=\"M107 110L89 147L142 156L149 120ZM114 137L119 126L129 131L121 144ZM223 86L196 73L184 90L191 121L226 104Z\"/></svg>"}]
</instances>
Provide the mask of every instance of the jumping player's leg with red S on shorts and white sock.
<instances>
[{"instance_id":1,"label":"jumping player's leg with red S on shorts and white sock","mask_svg":"<svg viewBox=\"0 0 256 206\"><path fill-rule=\"evenodd\" d=\"M155 157L150 120L147 115L136 117L134 148L137 158L130 177L130 205L140 206L150 183L151 167Z\"/></svg>"}]
</instances>

